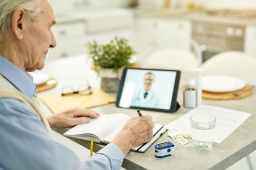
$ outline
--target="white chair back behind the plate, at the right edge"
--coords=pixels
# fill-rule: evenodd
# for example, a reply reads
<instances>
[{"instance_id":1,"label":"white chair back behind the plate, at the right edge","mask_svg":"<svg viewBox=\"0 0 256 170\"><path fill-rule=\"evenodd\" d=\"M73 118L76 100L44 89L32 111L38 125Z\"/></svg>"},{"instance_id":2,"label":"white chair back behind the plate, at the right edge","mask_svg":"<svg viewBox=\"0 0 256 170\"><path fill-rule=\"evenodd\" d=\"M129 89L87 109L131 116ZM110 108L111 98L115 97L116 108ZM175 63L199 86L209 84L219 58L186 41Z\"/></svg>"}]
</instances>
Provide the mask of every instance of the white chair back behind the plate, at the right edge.
<instances>
[{"instance_id":1,"label":"white chair back behind the plate, at the right edge","mask_svg":"<svg viewBox=\"0 0 256 170\"><path fill-rule=\"evenodd\" d=\"M256 85L256 57L242 51L225 51L204 62L202 73L230 75Z\"/></svg>"}]
</instances>

